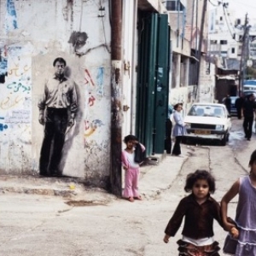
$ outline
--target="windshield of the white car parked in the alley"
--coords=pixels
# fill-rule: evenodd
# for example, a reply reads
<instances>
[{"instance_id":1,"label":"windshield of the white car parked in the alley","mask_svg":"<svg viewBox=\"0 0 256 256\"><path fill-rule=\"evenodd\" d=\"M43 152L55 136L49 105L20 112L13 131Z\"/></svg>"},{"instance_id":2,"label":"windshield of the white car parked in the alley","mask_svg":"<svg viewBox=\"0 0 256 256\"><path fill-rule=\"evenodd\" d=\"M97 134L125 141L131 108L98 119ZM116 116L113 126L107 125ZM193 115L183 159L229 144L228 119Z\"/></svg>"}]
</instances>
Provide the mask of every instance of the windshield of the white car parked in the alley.
<instances>
[{"instance_id":1,"label":"windshield of the white car parked in the alley","mask_svg":"<svg viewBox=\"0 0 256 256\"><path fill-rule=\"evenodd\" d=\"M211 116L224 118L224 108L221 106L194 105L190 108L188 115L193 116Z\"/></svg>"}]
</instances>

